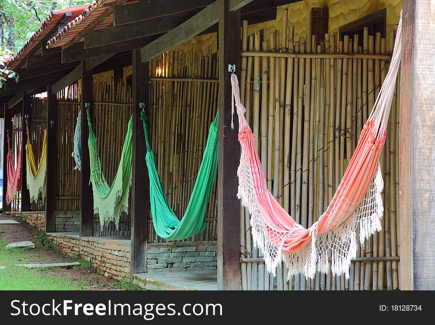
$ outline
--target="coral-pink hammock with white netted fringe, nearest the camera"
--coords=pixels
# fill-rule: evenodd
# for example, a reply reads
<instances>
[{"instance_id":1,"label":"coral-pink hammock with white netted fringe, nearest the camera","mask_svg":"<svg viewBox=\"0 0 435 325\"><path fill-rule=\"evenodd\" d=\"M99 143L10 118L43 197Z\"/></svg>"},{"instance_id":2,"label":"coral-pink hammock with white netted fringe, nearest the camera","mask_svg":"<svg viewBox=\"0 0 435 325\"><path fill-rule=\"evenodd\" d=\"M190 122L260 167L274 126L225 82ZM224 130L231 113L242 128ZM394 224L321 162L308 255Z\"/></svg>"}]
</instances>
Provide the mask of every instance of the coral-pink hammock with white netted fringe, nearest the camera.
<instances>
[{"instance_id":1,"label":"coral-pink hammock with white netted fringe, nearest the camera","mask_svg":"<svg viewBox=\"0 0 435 325\"><path fill-rule=\"evenodd\" d=\"M237 171L237 196L251 214L254 244L264 255L269 273L275 275L279 263L285 262L288 278L304 274L313 279L316 270L329 271L331 255L333 276L345 274L349 279L350 262L356 257L356 229L359 240L381 231L383 215L381 191L384 187L379 156L387 135L388 117L401 57L401 19L390 69L373 110L361 132L355 152L332 201L311 227L305 229L279 205L266 185L254 134L244 117L236 75L231 76L232 93L239 119L240 165ZM234 112L234 103L233 103Z\"/></svg>"}]
</instances>

